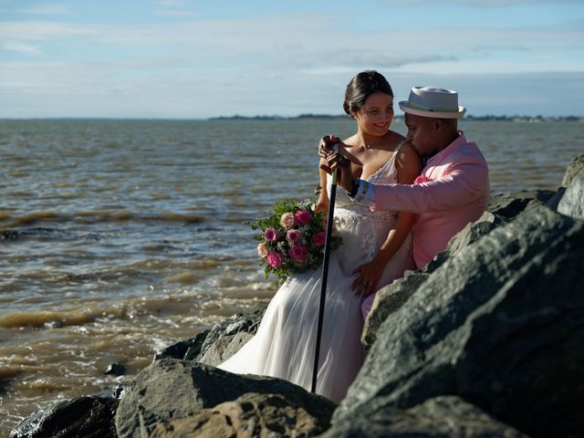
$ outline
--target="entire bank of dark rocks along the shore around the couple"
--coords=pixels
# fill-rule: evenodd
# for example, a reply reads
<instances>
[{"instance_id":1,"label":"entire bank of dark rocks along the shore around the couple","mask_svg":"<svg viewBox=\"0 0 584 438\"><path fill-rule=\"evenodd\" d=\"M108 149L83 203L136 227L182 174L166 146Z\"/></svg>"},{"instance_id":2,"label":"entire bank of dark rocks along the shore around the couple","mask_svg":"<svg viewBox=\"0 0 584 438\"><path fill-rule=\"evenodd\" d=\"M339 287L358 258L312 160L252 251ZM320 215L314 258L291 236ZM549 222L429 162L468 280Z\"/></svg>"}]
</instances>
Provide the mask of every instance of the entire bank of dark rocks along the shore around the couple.
<instances>
[{"instance_id":1,"label":"entire bank of dark rocks along the shore around the couple","mask_svg":"<svg viewBox=\"0 0 584 438\"><path fill-rule=\"evenodd\" d=\"M217 370L263 309L156 355L127 386L34 412L11 438L584 436L584 155L558 191L504 193L378 293L336 405Z\"/></svg>"}]
</instances>

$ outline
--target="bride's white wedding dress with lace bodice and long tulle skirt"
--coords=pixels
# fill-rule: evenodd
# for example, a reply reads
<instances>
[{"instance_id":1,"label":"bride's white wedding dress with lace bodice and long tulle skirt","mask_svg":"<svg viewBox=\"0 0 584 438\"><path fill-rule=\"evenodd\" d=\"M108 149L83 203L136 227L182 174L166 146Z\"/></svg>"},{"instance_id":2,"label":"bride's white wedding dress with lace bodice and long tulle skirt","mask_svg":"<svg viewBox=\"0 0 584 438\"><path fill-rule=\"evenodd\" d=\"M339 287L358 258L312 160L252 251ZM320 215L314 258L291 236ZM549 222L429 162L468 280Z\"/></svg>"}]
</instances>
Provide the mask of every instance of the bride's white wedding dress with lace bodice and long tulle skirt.
<instances>
[{"instance_id":1,"label":"bride's white wedding dress with lace bodice and long tulle skirt","mask_svg":"<svg viewBox=\"0 0 584 438\"><path fill-rule=\"evenodd\" d=\"M395 156L393 153L391 159L367 180L371 183L396 183ZM369 207L352 203L344 190L337 191L335 226L343 244L329 257L317 377L317 392L333 401L343 399L364 359L360 344L362 298L353 294L353 271L377 254L396 215L393 212L371 212ZM412 269L410 237L385 266L379 287L403 276L405 269ZM318 269L288 277L266 308L255 337L218 368L237 374L278 377L310 391L321 274L321 269Z\"/></svg>"}]
</instances>

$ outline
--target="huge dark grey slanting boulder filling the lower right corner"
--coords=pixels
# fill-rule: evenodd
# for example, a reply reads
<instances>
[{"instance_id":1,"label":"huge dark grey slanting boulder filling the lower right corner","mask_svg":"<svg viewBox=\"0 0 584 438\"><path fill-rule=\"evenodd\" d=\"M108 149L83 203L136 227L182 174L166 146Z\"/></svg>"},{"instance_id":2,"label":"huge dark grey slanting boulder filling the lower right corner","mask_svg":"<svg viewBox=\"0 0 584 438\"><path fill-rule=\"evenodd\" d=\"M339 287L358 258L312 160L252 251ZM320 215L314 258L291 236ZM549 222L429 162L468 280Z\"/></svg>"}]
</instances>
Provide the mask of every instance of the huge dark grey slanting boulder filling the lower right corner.
<instances>
[{"instance_id":1,"label":"huge dark grey slanting boulder filling the lower right corner","mask_svg":"<svg viewBox=\"0 0 584 438\"><path fill-rule=\"evenodd\" d=\"M539 205L436 269L378 330L333 416L444 394L534 437L581 436L584 223Z\"/></svg>"}]
</instances>

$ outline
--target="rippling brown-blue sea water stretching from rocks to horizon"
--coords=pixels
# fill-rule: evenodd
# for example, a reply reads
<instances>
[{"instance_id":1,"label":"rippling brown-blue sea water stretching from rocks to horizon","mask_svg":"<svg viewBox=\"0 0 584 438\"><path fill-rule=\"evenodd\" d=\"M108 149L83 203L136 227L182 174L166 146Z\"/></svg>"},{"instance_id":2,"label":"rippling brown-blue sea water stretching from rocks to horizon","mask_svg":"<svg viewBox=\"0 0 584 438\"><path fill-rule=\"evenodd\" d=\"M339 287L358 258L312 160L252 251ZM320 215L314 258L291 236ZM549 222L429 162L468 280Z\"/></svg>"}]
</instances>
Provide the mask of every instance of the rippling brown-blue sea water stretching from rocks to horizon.
<instances>
[{"instance_id":1,"label":"rippling brown-blue sea water stretching from rocks to horizon","mask_svg":"<svg viewBox=\"0 0 584 438\"><path fill-rule=\"evenodd\" d=\"M405 133L402 120L394 130ZM556 189L584 124L463 120L493 193ZM243 224L352 120L0 120L0 436L276 291ZM127 373L104 374L113 362Z\"/></svg>"}]
</instances>

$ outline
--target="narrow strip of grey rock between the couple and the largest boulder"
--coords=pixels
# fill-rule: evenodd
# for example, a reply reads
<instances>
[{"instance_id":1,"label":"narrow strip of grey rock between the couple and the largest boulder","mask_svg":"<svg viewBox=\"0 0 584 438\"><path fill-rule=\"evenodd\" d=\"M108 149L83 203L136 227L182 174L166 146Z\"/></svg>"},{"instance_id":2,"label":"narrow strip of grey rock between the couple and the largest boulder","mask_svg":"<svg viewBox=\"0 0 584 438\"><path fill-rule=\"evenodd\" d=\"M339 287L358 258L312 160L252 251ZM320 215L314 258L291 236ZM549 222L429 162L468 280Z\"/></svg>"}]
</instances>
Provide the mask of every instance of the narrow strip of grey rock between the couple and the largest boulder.
<instances>
[{"instance_id":1,"label":"narrow strip of grey rock between the couple and the largest boulder","mask_svg":"<svg viewBox=\"0 0 584 438\"><path fill-rule=\"evenodd\" d=\"M506 219L497 214L485 212L476 222L467 224L463 230L451 239L446 250L438 254L434 260L421 271L408 271L405 275L382 287L375 297L370 314L365 319L361 343L365 349L370 349L375 342L376 333L381 323L393 312L401 308L409 297L421 287L428 276L443 265L448 257L473 244L481 236L489 234L497 226L506 224Z\"/></svg>"}]
</instances>

